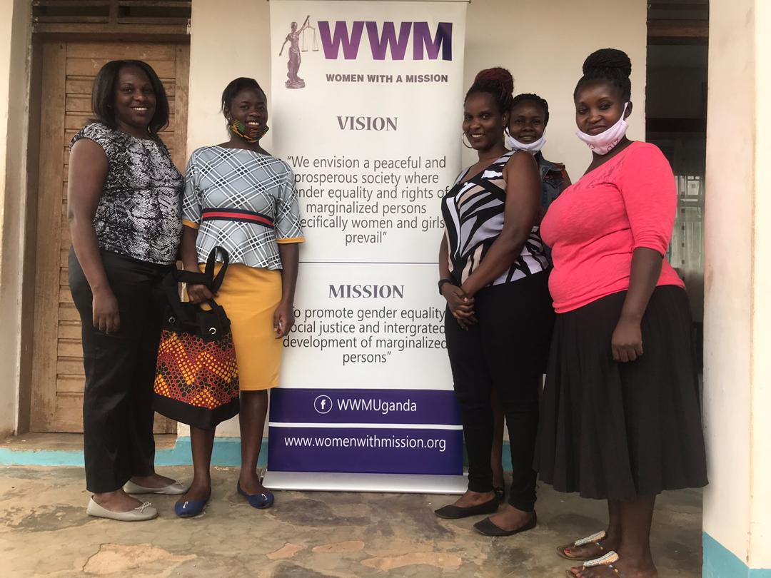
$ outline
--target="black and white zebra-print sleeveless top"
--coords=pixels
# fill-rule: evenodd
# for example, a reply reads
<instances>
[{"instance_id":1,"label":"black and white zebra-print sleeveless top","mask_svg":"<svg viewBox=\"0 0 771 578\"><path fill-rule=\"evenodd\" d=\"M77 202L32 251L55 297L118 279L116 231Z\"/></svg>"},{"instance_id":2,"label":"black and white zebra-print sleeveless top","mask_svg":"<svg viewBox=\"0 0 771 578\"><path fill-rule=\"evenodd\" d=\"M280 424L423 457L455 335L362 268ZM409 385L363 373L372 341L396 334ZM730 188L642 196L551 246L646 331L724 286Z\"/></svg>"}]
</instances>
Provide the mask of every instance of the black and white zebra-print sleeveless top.
<instances>
[{"instance_id":1,"label":"black and white zebra-print sleeveless top","mask_svg":"<svg viewBox=\"0 0 771 578\"><path fill-rule=\"evenodd\" d=\"M458 284L463 284L476 271L503 230L503 209L506 205L503 167L513 153L507 152L487 169L463 183L471 167L466 168L443 199L442 215L449 249L449 271ZM536 226L530 231L517 260L491 285L518 281L545 271L547 267L544 241Z\"/></svg>"}]
</instances>

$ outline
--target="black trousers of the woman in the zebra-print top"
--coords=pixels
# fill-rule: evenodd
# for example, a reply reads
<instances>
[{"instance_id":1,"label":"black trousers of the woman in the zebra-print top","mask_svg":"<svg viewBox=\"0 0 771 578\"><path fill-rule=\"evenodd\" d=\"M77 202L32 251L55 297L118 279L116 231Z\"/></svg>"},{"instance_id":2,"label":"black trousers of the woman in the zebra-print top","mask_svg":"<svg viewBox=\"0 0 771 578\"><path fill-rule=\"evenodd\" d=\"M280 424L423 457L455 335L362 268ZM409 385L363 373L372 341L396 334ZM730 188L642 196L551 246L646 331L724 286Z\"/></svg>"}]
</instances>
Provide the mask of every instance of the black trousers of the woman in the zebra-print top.
<instances>
[{"instance_id":1,"label":"black trousers of the woman in the zebra-print top","mask_svg":"<svg viewBox=\"0 0 771 578\"><path fill-rule=\"evenodd\" d=\"M493 489L490 392L497 388L509 428L513 469L509 503L525 512L535 506L538 391L554 328L547 281L548 273L542 272L484 288L474 296L478 323L468 331L460 328L449 309L445 316L447 351L469 458L469 489Z\"/></svg>"}]
</instances>

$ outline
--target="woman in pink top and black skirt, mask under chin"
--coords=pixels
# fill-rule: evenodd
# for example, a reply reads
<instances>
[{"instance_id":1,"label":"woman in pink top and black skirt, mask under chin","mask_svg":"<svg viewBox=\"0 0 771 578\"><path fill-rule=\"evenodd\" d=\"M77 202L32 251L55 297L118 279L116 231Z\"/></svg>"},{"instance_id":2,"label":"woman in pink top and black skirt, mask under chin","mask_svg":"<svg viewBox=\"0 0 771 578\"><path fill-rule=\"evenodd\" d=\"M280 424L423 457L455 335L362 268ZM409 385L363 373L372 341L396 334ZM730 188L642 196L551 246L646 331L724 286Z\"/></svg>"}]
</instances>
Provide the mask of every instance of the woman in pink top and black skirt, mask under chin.
<instances>
[{"instance_id":1,"label":"woman in pink top and black skirt, mask under chin","mask_svg":"<svg viewBox=\"0 0 771 578\"><path fill-rule=\"evenodd\" d=\"M677 197L662 152L626 138L631 62L604 49L574 92L584 176L552 203L557 322L541 407L537 467L561 492L607 499L604 532L562 546L586 561L568 576L657 576L655 497L707 483L685 287L664 255Z\"/></svg>"}]
</instances>

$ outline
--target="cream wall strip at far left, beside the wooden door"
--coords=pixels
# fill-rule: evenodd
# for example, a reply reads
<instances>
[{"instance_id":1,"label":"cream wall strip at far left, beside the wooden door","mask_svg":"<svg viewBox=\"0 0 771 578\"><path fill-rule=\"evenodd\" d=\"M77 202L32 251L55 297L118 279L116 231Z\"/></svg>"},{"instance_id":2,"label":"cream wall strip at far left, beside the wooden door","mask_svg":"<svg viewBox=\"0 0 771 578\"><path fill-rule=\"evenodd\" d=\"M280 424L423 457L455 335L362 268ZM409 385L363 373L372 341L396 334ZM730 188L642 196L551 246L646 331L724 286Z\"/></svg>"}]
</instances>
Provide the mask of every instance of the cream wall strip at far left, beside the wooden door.
<instances>
[{"instance_id":1,"label":"cream wall strip at far left, beside the wooden door","mask_svg":"<svg viewBox=\"0 0 771 578\"><path fill-rule=\"evenodd\" d=\"M0 0L0 438L19 410L30 12L25 0Z\"/></svg>"}]
</instances>

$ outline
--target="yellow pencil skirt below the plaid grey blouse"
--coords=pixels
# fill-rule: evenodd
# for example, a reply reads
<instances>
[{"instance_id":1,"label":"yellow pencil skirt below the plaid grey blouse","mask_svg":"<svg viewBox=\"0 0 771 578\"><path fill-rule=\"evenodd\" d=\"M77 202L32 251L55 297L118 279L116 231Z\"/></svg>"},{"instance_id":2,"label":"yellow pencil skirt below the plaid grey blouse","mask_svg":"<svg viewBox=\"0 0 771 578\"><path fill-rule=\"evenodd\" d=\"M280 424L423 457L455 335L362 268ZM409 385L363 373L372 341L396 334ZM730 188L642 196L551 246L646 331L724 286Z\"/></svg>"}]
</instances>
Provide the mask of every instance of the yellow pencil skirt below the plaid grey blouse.
<instances>
[{"instance_id":1,"label":"yellow pencil skirt below the plaid grey blouse","mask_svg":"<svg viewBox=\"0 0 771 578\"><path fill-rule=\"evenodd\" d=\"M203 272L205 264L199 267ZM284 344L273 331L273 314L281 302L281 271L230 264L214 300L231 320L241 391L278 386Z\"/></svg>"}]
</instances>

